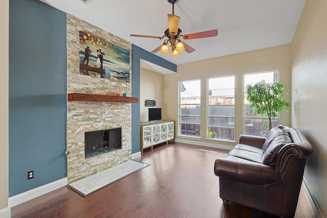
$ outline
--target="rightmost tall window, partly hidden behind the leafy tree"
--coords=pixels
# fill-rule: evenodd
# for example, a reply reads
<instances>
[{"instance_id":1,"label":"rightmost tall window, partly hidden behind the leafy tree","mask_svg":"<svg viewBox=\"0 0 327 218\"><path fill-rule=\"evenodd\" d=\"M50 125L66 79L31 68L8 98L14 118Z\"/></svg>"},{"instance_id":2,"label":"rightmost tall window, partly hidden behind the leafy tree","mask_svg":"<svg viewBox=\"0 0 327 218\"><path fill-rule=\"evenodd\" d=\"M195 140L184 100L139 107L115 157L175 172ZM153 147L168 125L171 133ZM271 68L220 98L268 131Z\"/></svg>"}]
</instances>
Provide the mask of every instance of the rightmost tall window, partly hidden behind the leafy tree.
<instances>
[{"instance_id":1,"label":"rightmost tall window, partly hidden behind the leafy tree","mask_svg":"<svg viewBox=\"0 0 327 218\"><path fill-rule=\"evenodd\" d=\"M246 100L245 88L247 84L257 83L262 80L266 82L278 82L278 71L259 72L255 74L244 75L244 134L267 136L269 129L262 126L262 124L268 119L268 117L262 117L260 115L251 114L249 110L249 102ZM272 119L272 128L278 126L278 117Z\"/></svg>"}]
</instances>

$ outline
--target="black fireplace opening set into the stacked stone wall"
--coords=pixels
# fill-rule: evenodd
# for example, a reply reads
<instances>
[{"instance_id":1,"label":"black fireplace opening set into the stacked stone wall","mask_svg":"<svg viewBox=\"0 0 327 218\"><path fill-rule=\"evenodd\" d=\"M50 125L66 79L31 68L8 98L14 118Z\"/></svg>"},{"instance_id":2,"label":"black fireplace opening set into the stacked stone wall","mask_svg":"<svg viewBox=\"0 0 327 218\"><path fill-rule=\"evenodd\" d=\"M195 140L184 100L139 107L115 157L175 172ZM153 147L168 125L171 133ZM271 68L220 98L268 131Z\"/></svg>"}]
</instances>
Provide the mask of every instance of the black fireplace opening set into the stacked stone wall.
<instances>
[{"instance_id":1,"label":"black fireplace opening set into the stacked stone wall","mask_svg":"<svg viewBox=\"0 0 327 218\"><path fill-rule=\"evenodd\" d=\"M85 132L85 158L122 148L122 128Z\"/></svg>"}]
</instances>

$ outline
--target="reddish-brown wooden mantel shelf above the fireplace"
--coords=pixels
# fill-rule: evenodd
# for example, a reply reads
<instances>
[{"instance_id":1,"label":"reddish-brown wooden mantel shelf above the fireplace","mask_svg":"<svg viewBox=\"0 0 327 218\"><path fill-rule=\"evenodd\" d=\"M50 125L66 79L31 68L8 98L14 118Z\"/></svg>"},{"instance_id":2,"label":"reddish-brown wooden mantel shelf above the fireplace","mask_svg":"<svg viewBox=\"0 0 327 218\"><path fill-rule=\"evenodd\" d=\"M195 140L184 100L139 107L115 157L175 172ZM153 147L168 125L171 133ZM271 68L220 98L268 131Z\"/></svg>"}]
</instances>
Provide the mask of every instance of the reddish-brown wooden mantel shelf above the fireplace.
<instances>
[{"instance_id":1,"label":"reddish-brown wooden mantel shelf above the fireplace","mask_svg":"<svg viewBox=\"0 0 327 218\"><path fill-rule=\"evenodd\" d=\"M68 102L70 101L138 103L138 98L104 94L68 93Z\"/></svg>"}]
</instances>

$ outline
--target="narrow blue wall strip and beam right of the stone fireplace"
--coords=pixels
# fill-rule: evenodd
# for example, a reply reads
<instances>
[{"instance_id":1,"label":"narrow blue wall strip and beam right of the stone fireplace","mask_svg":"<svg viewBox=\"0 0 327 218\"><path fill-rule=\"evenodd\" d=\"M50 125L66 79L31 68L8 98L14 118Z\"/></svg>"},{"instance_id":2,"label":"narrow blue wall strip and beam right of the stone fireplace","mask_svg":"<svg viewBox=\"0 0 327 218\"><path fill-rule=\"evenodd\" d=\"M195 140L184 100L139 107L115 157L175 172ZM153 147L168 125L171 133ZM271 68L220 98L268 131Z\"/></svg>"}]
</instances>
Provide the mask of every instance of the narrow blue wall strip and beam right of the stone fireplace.
<instances>
[{"instance_id":1,"label":"narrow blue wall strip and beam right of the stone fireplace","mask_svg":"<svg viewBox=\"0 0 327 218\"><path fill-rule=\"evenodd\" d=\"M132 154L140 151L140 60L146 60L161 67L165 67L174 72L177 72L177 65L173 64L159 56L141 49L136 45L132 45L132 96L138 98L138 103L132 104Z\"/></svg>"}]
</instances>

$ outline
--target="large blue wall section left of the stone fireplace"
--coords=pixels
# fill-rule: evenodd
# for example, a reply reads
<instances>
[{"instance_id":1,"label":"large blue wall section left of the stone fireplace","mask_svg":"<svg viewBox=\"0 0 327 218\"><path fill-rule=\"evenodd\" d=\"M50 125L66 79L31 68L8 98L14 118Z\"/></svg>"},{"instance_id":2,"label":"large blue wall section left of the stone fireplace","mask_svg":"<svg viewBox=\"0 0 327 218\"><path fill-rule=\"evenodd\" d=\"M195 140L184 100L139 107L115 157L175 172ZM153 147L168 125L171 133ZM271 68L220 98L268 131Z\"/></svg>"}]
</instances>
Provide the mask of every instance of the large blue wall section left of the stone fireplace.
<instances>
[{"instance_id":1,"label":"large blue wall section left of the stone fireplace","mask_svg":"<svg viewBox=\"0 0 327 218\"><path fill-rule=\"evenodd\" d=\"M9 197L67 176L66 54L64 12L10 0Z\"/></svg>"}]
</instances>

